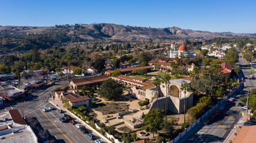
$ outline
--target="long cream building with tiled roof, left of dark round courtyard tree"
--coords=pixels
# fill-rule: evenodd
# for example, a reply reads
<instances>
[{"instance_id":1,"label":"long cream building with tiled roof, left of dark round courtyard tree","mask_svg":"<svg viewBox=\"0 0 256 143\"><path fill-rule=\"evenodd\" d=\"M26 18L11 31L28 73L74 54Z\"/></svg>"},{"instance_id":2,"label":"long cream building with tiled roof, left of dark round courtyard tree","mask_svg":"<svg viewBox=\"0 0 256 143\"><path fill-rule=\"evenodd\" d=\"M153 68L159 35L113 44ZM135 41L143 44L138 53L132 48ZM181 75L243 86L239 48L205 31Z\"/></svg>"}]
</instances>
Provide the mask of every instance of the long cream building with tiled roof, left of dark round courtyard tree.
<instances>
[{"instance_id":1,"label":"long cream building with tiled roof, left of dark round courtyard tree","mask_svg":"<svg viewBox=\"0 0 256 143\"><path fill-rule=\"evenodd\" d=\"M107 72L107 71L106 71ZM107 75L84 77L82 79L74 79L70 81L70 88L80 90L82 86L100 86L104 80L109 79Z\"/></svg>"}]
</instances>

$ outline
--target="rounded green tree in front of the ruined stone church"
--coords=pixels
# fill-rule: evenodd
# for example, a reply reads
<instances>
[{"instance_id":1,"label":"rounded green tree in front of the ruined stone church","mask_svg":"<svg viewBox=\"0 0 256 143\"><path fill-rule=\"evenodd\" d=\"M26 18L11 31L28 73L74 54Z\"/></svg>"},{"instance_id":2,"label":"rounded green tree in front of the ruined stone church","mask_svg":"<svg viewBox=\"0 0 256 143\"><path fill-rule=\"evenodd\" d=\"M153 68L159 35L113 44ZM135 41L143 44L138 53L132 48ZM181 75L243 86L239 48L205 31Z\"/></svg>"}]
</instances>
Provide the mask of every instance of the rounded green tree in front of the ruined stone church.
<instances>
[{"instance_id":1,"label":"rounded green tree in front of the ruined stone church","mask_svg":"<svg viewBox=\"0 0 256 143\"><path fill-rule=\"evenodd\" d=\"M164 125L164 111L159 110L158 108L153 108L145 115L143 119L143 129L146 132L157 133L158 130L161 130Z\"/></svg>"}]
</instances>

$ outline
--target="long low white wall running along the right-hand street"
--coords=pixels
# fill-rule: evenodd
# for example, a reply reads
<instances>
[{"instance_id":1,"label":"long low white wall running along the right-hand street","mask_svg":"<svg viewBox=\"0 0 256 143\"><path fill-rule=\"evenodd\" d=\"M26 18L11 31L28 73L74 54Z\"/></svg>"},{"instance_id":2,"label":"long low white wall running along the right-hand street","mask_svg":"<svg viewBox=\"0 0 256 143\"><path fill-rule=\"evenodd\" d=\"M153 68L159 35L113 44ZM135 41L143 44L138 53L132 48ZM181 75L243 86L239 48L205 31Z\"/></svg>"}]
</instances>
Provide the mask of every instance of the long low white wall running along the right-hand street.
<instances>
[{"instance_id":1,"label":"long low white wall running along the right-hand street","mask_svg":"<svg viewBox=\"0 0 256 143\"><path fill-rule=\"evenodd\" d=\"M219 107L220 104L222 104L223 102L225 102L231 95L233 95L234 93L236 93L237 90L239 90L242 87L242 85L239 85L237 88L235 88L232 92L230 92L225 98L223 98L223 100L221 100L221 102L219 102L218 104L214 105L212 108L210 108L210 110L208 110L205 114L203 114L203 116L201 116L199 119L195 120L194 123L192 123L191 126L189 126L188 128L186 128L182 133L179 133L179 135L176 136L176 138L174 138L173 140L171 140L169 143L175 143L177 141L179 141L180 138L182 138L182 136L185 136L186 133L188 133L192 128L194 128L195 126L200 124L200 121L202 121L204 118L206 118L210 113L212 113L212 111L215 111L216 108Z\"/></svg>"}]
</instances>

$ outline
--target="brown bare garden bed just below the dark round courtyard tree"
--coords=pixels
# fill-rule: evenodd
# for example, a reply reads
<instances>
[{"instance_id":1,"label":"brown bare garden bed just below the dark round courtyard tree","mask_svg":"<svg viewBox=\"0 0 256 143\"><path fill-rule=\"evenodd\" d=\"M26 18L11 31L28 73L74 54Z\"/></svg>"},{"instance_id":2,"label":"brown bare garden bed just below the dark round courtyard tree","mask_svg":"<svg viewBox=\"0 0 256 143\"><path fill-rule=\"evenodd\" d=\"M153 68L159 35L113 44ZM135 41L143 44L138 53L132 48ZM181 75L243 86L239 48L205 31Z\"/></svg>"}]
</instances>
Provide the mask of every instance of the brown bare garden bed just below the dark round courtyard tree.
<instances>
[{"instance_id":1,"label":"brown bare garden bed just below the dark round courtyard tree","mask_svg":"<svg viewBox=\"0 0 256 143\"><path fill-rule=\"evenodd\" d=\"M94 108L96 111L100 111L101 113L103 113L103 115L106 115L126 111L129 109L129 106L127 105L127 103L123 102L102 102L94 104Z\"/></svg>"}]
</instances>

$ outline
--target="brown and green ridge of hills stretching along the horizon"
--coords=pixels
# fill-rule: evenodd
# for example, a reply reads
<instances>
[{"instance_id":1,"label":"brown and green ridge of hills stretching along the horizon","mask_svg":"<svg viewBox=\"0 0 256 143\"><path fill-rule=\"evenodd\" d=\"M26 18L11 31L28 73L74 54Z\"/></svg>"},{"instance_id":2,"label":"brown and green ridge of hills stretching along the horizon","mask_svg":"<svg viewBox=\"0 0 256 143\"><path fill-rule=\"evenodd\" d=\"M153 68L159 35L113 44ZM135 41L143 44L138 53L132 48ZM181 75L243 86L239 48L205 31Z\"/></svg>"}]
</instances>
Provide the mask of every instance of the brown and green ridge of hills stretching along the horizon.
<instances>
[{"instance_id":1,"label":"brown and green ridge of hills stretching along the horizon","mask_svg":"<svg viewBox=\"0 0 256 143\"><path fill-rule=\"evenodd\" d=\"M31 27L31 26L0 26L0 31L6 32L26 32L26 33L45 33L49 31L66 32L68 35L76 36L82 39L120 39L124 41L158 41L162 39L173 38L198 38L209 39L214 37L249 37L256 34L248 33L232 33L232 32L207 32L190 29L180 29L179 27L167 28L148 28L122 26L118 24L100 23L75 26L47 26L47 27Z\"/></svg>"}]
</instances>

